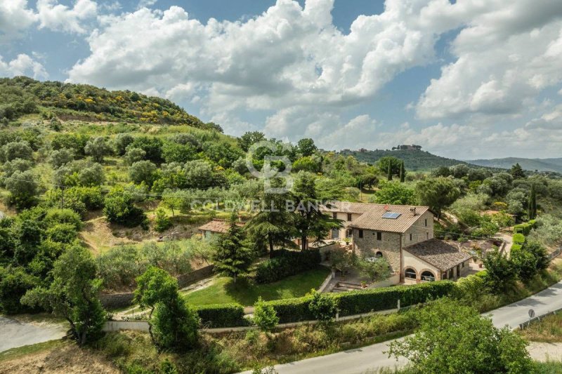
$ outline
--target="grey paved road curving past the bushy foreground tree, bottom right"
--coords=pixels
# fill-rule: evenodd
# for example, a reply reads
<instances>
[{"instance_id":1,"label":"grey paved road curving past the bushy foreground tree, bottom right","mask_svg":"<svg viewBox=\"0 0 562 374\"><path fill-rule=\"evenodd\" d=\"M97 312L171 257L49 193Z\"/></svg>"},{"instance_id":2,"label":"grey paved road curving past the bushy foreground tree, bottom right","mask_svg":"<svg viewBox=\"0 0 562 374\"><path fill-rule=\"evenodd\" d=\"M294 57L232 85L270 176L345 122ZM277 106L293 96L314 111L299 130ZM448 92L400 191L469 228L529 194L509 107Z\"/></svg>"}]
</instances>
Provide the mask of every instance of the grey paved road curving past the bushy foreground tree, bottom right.
<instances>
[{"instance_id":1,"label":"grey paved road curving past the bushy foreground tree, bottom right","mask_svg":"<svg viewBox=\"0 0 562 374\"><path fill-rule=\"evenodd\" d=\"M518 327L519 323L528 320L528 310L534 309L537 316L546 314L562 308L562 281L542 290L540 293L530 296L514 304L495 309L492 321L495 326L509 325L511 328ZM397 365L396 359L388 359L383 352L388 350L388 342L369 345L358 349L328 354L327 356L315 357L292 363L284 363L275 366L280 374L301 373L342 373L359 374L367 370L379 370L380 368L392 368ZM559 359L551 357L551 359ZM398 365L405 363L405 359L398 361ZM376 372L376 371L375 371ZM247 372L250 373L250 372Z\"/></svg>"}]
</instances>

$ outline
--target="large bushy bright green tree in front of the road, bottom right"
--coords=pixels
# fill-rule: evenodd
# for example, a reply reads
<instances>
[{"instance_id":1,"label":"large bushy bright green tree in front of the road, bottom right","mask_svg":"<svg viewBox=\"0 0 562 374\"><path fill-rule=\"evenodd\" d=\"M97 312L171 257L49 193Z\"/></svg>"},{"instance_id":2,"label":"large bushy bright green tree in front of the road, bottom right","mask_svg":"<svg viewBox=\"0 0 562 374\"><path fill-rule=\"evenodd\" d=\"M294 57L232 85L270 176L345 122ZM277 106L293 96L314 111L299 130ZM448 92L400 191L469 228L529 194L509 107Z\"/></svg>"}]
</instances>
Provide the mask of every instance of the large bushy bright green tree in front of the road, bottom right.
<instances>
[{"instance_id":1,"label":"large bushy bright green tree in front of the road, bottom right","mask_svg":"<svg viewBox=\"0 0 562 374\"><path fill-rule=\"evenodd\" d=\"M509 328L497 328L476 309L447 299L419 313L419 328L391 342L389 356L404 356L415 373L531 373L527 343Z\"/></svg>"}]
</instances>

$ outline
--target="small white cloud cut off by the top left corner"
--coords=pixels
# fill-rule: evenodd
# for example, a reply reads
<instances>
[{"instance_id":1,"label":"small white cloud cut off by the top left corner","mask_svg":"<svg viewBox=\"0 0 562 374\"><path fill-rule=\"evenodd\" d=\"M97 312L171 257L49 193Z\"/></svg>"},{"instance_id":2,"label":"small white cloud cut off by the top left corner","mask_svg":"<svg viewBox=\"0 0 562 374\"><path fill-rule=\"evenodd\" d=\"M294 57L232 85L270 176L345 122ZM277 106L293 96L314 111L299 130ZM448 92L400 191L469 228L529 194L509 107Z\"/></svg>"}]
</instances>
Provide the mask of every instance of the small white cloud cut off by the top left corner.
<instances>
[{"instance_id":1,"label":"small white cloud cut off by the top left corner","mask_svg":"<svg viewBox=\"0 0 562 374\"><path fill-rule=\"evenodd\" d=\"M0 42L17 39L36 20L27 0L0 1Z\"/></svg>"}]
</instances>

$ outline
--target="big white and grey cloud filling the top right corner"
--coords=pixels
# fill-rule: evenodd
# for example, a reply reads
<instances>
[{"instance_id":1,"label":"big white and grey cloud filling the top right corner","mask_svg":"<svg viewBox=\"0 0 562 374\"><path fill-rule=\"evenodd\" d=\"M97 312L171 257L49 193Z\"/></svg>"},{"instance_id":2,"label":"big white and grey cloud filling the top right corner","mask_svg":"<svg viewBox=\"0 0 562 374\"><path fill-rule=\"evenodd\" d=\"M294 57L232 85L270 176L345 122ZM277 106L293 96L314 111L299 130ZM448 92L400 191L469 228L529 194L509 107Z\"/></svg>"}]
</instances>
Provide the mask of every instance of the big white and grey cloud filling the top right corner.
<instances>
[{"instance_id":1,"label":"big white and grey cloud filling the top right corner","mask_svg":"<svg viewBox=\"0 0 562 374\"><path fill-rule=\"evenodd\" d=\"M476 0L464 1L471 2ZM537 93L561 81L562 2L485 4L453 41L457 60L421 96L422 119L519 114Z\"/></svg>"}]
</instances>

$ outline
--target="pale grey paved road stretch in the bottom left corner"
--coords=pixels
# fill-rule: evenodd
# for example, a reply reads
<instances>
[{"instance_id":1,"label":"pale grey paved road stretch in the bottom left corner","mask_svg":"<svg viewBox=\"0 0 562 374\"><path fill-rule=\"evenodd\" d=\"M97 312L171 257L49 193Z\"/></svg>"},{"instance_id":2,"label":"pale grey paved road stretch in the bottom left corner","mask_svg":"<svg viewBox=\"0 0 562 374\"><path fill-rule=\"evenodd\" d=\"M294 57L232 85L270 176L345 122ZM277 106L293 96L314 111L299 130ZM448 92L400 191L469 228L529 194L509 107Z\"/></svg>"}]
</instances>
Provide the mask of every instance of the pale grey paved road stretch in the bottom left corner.
<instances>
[{"instance_id":1,"label":"pale grey paved road stretch in the bottom left corner","mask_svg":"<svg viewBox=\"0 0 562 374\"><path fill-rule=\"evenodd\" d=\"M0 352L6 349L63 338L66 328L58 325L36 326L0 317Z\"/></svg>"}]
</instances>

